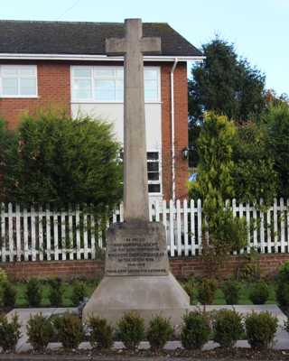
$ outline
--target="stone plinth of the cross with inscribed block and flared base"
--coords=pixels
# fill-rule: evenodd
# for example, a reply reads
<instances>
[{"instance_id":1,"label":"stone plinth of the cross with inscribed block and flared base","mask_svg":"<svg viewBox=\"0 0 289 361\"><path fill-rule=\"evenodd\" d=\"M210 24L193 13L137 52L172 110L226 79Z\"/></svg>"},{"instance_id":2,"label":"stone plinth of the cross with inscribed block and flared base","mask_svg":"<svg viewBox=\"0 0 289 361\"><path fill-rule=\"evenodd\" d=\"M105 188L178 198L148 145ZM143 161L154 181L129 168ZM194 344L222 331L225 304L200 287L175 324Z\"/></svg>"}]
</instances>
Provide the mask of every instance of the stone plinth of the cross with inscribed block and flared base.
<instances>
[{"instance_id":1,"label":"stone plinth of the cross with inscribed block and flared base","mask_svg":"<svg viewBox=\"0 0 289 361\"><path fill-rule=\"evenodd\" d=\"M180 325L190 299L169 271L162 224L122 223L107 230L105 277L83 310L116 324L135 310L147 324L155 315Z\"/></svg>"}]
</instances>

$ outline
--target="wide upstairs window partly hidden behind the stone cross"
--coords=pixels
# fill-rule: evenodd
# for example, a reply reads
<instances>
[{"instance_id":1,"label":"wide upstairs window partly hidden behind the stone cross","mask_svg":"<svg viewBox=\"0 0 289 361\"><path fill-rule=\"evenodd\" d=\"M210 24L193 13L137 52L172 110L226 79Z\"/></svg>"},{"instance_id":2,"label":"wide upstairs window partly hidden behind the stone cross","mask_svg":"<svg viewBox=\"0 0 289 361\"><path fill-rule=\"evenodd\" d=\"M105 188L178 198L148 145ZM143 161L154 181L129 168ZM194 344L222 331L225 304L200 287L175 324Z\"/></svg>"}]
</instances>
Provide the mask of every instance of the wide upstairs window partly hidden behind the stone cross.
<instances>
[{"instance_id":1,"label":"wide upstairs window partly hidden behind the stone cross","mask_svg":"<svg viewBox=\"0 0 289 361\"><path fill-rule=\"evenodd\" d=\"M159 68L144 68L144 101L160 101ZM72 67L72 100L92 103L124 101L123 67Z\"/></svg>"}]
</instances>

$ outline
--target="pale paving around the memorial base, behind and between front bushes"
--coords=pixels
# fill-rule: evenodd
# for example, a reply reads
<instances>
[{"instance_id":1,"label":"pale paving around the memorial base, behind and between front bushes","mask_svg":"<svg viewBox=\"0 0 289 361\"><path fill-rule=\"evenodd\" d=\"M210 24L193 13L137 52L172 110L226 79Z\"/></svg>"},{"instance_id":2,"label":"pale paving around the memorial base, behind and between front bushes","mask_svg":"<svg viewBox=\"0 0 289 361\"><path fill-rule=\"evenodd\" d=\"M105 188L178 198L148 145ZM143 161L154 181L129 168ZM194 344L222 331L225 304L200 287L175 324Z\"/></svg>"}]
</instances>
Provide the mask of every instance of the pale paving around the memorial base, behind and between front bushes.
<instances>
[{"instance_id":1,"label":"pale paving around the memorial base, behind and between front bushes","mask_svg":"<svg viewBox=\"0 0 289 361\"><path fill-rule=\"evenodd\" d=\"M276 305L248 305L248 306L207 306L206 310L211 311L211 310L221 310L221 309L235 309L237 310L239 313L242 313L243 315L247 315L248 313L251 313L253 310L256 312L263 312L263 311L269 311L270 313L272 313L273 315L275 315L275 317L277 317L278 319L278 331L276 333L276 337L275 337L275 349L289 349L289 334L288 332L286 332L284 330L284 321L287 319L286 316L284 315L284 313L276 306ZM197 307L196 306L191 306L191 310L196 310ZM202 307L201 307L202 309ZM22 338L19 340L18 345L16 347L16 351L19 352L26 352L29 351L32 347L27 343L27 336L26 336L26 323L27 320L30 318L30 315L34 315L36 313L42 312L43 315L45 316L50 316L52 314L59 314L59 313L64 313L65 311L70 311L70 312L77 312L76 308L60 308L60 309L17 309L17 310L12 310L11 312L9 312L8 317L12 317L12 315L14 314L14 312L17 312L18 316L19 316L19 320L22 324ZM50 349L59 349L61 347L60 343L50 343L49 344L49 348ZM120 349L123 348L123 344L122 342L115 342L114 344L114 348L116 349ZM181 342L180 341L170 341L167 343L167 345L164 347L167 350L174 350L178 347L182 347ZM209 341L204 349L212 349L218 347L218 344L214 343L213 341ZM240 340L237 342L237 347L249 347L248 343L246 340ZM89 343L88 342L82 342L79 346L79 348L82 349L89 349ZM141 349L145 349L145 348L149 348L149 343L148 342L141 342L140 347Z\"/></svg>"}]
</instances>

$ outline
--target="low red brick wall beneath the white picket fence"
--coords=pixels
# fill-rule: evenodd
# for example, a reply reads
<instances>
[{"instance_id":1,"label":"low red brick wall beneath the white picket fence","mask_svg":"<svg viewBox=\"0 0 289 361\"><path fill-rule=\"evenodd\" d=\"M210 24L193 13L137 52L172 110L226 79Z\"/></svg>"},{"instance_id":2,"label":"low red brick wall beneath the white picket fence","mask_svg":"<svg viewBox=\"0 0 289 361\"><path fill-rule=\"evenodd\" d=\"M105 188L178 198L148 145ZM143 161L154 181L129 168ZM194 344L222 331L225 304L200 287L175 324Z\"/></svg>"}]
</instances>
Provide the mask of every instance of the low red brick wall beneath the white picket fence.
<instances>
[{"instance_id":1,"label":"low red brick wall beneath the white picket fence","mask_svg":"<svg viewBox=\"0 0 289 361\"><path fill-rule=\"evenodd\" d=\"M258 263L263 275L273 277L278 268L289 260L289 254L284 255L260 255ZM219 270L220 277L236 274L247 259L244 256L231 256L224 267ZM200 257L171 258L172 273L177 278L187 278L190 275L204 276L207 273L207 265ZM42 261L42 262L15 262L0 264L9 276L14 280L27 280L31 277L62 279L87 278L94 279L102 276L104 261Z\"/></svg>"}]
</instances>

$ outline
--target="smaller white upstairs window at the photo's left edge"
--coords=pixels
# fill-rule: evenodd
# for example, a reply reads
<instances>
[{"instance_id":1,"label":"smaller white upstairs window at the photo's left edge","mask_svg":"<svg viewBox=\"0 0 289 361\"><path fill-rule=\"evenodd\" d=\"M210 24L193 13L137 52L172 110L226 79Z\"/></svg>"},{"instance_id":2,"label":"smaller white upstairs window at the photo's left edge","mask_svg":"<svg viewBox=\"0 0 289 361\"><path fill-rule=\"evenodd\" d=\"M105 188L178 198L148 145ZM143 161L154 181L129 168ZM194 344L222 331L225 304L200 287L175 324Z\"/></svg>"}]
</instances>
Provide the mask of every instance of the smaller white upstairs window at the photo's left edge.
<instances>
[{"instance_id":1,"label":"smaller white upstairs window at the photo's left edge","mask_svg":"<svg viewBox=\"0 0 289 361\"><path fill-rule=\"evenodd\" d=\"M0 97L37 97L35 65L0 65Z\"/></svg>"}]
</instances>

